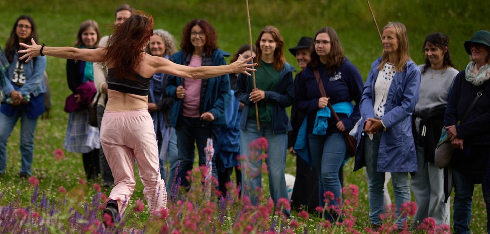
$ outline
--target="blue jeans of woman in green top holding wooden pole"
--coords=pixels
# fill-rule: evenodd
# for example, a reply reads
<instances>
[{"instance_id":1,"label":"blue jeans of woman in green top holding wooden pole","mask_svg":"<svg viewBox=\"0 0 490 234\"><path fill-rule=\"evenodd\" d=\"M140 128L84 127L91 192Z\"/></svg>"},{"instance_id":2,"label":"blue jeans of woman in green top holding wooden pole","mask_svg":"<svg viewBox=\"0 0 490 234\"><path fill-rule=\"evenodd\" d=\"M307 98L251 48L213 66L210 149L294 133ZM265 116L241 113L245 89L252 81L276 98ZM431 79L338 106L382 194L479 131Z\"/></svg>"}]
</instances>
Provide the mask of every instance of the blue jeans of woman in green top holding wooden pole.
<instances>
[{"instance_id":1,"label":"blue jeans of woman in green top holding wooden pole","mask_svg":"<svg viewBox=\"0 0 490 234\"><path fill-rule=\"evenodd\" d=\"M274 204L277 204L279 198L289 200L286 179L284 178L288 135L286 133L272 133L270 123L264 122L260 122L260 131L258 131L255 119L248 120L245 129L240 130L240 151L242 157L245 158L242 161L242 185L245 185L245 192L250 197L252 204L257 204L258 195L262 188L262 159L251 159L248 145L260 137L265 137L269 142L269 148L266 149L266 153L269 155L266 158L266 164L269 171L270 196ZM259 153L257 152L257 154ZM289 215L289 210L283 212Z\"/></svg>"}]
</instances>

